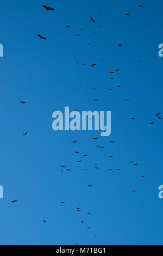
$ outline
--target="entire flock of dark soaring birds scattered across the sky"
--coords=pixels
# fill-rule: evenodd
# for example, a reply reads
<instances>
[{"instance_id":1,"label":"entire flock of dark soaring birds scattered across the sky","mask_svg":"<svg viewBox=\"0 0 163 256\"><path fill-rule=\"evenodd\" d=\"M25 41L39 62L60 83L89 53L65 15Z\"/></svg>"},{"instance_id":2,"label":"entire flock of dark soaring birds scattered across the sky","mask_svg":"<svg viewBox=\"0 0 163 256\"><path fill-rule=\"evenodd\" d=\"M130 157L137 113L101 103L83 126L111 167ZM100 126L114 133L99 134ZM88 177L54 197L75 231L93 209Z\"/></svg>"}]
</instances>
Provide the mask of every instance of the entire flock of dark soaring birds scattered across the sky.
<instances>
[{"instance_id":1,"label":"entire flock of dark soaring birds scattered across the sky","mask_svg":"<svg viewBox=\"0 0 163 256\"><path fill-rule=\"evenodd\" d=\"M52 7L48 7L47 5L42 5L43 8L45 8L47 11L54 11L54 8ZM75 6L76 8L78 8L78 5ZM139 8L143 8L143 5L138 5ZM99 13L99 15L101 15ZM126 14L127 16L130 15L130 14ZM93 19L92 17L90 17L90 21L93 22L93 23L96 23L95 19ZM71 28L70 25L65 25L67 28ZM101 27L101 26L100 26ZM84 30L83 28L81 30ZM95 32L96 33L96 32ZM40 39L43 39L43 40L46 40L47 38L45 36L42 36L40 34L37 34L39 36ZM77 36L79 36L79 34L77 34ZM88 44L90 45L90 44ZM117 44L118 47L123 47L122 44ZM103 59L101 59L103 60ZM141 62L141 61L140 61ZM76 64L79 64L78 62L76 62ZM83 64L85 65L85 64ZM96 63L92 63L91 64L92 68L95 68L96 67ZM114 74L115 72L118 72L120 69L116 69L114 71L108 71L109 74ZM80 71L79 71L80 72ZM110 78L110 80L114 80L114 78ZM118 88L120 88L121 86L117 86ZM95 88L92 88L92 89L95 89ZM109 88L109 90L112 90L112 88ZM129 101L129 99L124 99L125 101ZM94 99L93 100L94 102L97 102L99 101L98 99ZM22 104L25 104L26 101L20 101L20 103ZM89 105L93 104L93 102L91 102ZM78 110L75 110L75 111L78 111ZM155 114L155 117L158 118L159 120L161 120L162 118L160 117L160 112ZM132 117L131 119L135 119L134 117ZM149 124L154 124L155 121L152 121L151 123ZM23 136L26 136L27 135L27 132L24 132L23 133ZM97 140L98 137L95 137L95 138L92 138L93 140ZM78 141L72 141L72 143L77 143ZM62 143L64 143L64 141L62 141ZM110 143L115 143L115 141L110 141ZM104 149L105 147L103 147L103 145L96 145L97 148L101 148L101 149ZM80 154L79 151L74 151L74 154ZM86 157L87 154L82 154L82 157ZM110 158L113 157L112 155L109 156ZM83 160L82 159L79 159L77 162L82 162ZM130 161L130 164L133 164L133 166L137 166L138 163L134 162L134 161ZM60 164L60 167L61 167L61 172L64 172L64 170L67 170L68 172L71 172L71 168L70 167L66 167L65 164ZM99 167L97 166L97 164L95 164L95 168L96 169L99 169ZM86 170L86 169L85 169ZM109 168L109 170L112 170L112 168ZM121 170L121 168L117 168L117 170ZM144 178L145 175L141 175L141 178ZM92 187L93 185L92 184L87 184L88 187ZM132 190L132 192L136 192L137 190ZM12 200L11 203L16 203L17 200ZM60 202L61 204L65 204L65 202ZM82 211L82 209L80 209L79 207L76 207L76 210L77 211ZM91 215L91 212L87 212L87 214ZM43 222L47 222L46 220L42 220ZM82 224L84 224L84 221L83 220L80 220L80 222ZM91 229L91 227L87 227L87 229ZM97 235L95 235L97 236Z\"/></svg>"}]
</instances>

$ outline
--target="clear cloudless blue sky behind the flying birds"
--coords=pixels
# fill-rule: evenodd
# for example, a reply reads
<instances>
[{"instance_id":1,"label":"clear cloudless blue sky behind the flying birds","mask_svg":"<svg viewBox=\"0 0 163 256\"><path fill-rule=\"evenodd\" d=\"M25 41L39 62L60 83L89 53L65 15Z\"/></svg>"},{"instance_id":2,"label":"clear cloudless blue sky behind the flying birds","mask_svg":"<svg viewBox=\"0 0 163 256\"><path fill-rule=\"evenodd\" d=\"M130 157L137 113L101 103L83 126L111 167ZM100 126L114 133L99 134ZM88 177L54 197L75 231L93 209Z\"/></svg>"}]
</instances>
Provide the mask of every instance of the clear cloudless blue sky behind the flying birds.
<instances>
[{"instance_id":1,"label":"clear cloudless blue sky behind the flying birds","mask_svg":"<svg viewBox=\"0 0 163 256\"><path fill-rule=\"evenodd\" d=\"M160 0L1 1L1 245L162 245L162 8ZM53 131L52 113L65 106L111 111L111 136Z\"/></svg>"}]
</instances>

